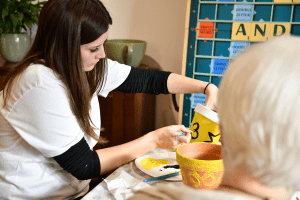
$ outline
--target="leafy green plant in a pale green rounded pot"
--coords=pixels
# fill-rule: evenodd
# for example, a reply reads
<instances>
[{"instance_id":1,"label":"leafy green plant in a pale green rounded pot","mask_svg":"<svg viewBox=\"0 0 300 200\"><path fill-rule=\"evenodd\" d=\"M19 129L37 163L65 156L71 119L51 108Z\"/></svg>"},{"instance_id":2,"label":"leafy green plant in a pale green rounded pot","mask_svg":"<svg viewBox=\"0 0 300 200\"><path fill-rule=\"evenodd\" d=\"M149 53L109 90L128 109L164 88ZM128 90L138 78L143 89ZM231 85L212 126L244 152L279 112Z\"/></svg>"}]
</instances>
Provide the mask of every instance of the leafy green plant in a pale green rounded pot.
<instances>
[{"instance_id":1,"label":"leafy green plant in a pale green rounded pot","mask_svg":"<svg viewBox=\"0 0 300 200\"><path fill-rule=\"evenodd\" d=\"M0 53L9 62L19 62L31 47L29 32L38 23L45 2L36 0L0 1Z\"/></svg>"}]
</instances>

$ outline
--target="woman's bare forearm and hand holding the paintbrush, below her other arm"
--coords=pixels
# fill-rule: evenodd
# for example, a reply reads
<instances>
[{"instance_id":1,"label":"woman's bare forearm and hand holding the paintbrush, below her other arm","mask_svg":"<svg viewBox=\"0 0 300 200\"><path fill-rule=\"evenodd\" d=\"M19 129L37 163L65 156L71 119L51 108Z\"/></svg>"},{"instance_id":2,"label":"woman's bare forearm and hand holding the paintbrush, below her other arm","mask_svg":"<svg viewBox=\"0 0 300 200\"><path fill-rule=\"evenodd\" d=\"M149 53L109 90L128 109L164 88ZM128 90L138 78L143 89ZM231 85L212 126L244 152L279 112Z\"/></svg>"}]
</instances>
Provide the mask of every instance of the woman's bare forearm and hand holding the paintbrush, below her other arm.
<instances>
[{"instance_id":1,"label":"woman's bare forearm and hand holding the paintbrush, below her other arm","mask_svg":"<svg viewBox=\"0 0 300 200\"><path fill-rule=\"evenodd\" d=\"M176 137L182 132L187 134ZM183 125L167 126L125 144L98 149L96 152L101 163L101 174L110 173L153 149L176 149L180 144L190 142L190 132Z\"/></svg>"}]
</instances>

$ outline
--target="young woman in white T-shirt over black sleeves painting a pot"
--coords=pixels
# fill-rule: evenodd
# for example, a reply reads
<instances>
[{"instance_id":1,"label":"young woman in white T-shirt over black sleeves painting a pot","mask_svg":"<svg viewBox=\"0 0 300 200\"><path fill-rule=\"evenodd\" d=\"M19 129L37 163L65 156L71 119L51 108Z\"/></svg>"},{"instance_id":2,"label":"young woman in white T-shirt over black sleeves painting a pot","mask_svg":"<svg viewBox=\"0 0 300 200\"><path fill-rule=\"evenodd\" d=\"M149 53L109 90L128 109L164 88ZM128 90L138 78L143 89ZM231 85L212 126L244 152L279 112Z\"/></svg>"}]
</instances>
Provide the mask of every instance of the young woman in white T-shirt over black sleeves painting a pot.
<instances>
[{"instance_id":1,"label":"young woman in white T-shirt over black sleeves painting a pot","mask_svg":"<svg viewBox=\"0 0 300 200\"><path fill-rule=\"evenodd\" d=\"M203 93L206 88L206 105L216 108L213 84L106 59L110 24L98 0L49 0L42 8L32 48L0 88L1 199L78 198L88 192L91 178L191 138L187 128L176 125L92 151L105 142L97 95ZM175 138L178 131L188 134Z\"/></svg>"}]
</instances>

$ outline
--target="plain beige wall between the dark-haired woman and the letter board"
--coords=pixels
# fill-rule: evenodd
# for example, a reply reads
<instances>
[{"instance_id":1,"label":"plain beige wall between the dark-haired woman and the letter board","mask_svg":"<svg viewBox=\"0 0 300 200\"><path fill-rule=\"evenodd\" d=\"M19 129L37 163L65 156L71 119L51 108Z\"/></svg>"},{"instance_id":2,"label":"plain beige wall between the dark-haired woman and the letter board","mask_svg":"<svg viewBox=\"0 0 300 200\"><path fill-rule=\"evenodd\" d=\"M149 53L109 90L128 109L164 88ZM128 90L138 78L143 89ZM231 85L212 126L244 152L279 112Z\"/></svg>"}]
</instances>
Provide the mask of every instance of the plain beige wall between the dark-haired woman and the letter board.
<instances>
[{"instance_id":1,"label":"plain beige wall between the dark-haired woman and the letter board","mask_svg":"<svg viewBox=\"0 0 300 200\"><path fill-rule=\"evenodd\" d=\"M113 18L109 39L145 40L144 64L181 74L187 0L102 2ZM158 95L156 101L156 128L177 124L171 95Z\"/></svg>"}]
</instances>

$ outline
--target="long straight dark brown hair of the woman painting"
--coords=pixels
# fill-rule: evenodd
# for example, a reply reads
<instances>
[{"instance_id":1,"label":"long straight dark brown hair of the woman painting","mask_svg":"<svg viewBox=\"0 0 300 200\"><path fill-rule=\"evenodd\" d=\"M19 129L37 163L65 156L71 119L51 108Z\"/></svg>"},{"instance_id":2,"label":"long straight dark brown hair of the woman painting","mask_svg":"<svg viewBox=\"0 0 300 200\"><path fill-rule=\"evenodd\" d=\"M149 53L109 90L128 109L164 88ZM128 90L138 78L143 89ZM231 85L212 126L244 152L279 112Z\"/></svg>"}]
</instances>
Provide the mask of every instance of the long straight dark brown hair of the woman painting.
<instances>
[{"instance_id":1,"label":"long straight dark brown hair of the woman painting","mask_svg":"<svg viewBox=\"0 0 300 200\"><path fill-rule=\"evenodd\" d=\"M4 106L10 98L12 82L30 63L41 63L64 83L73 114L82 130L100 143L90 119L90 102L106 79L106 59L85 72L80 45L91 43L108 30L112 19L99 0L49 0L43 6L31 49L6 77L0 87ZM5 90L4 90L5 89ZM100 128L100 127L99 127Z\"/></svg>"}]
</instances>

